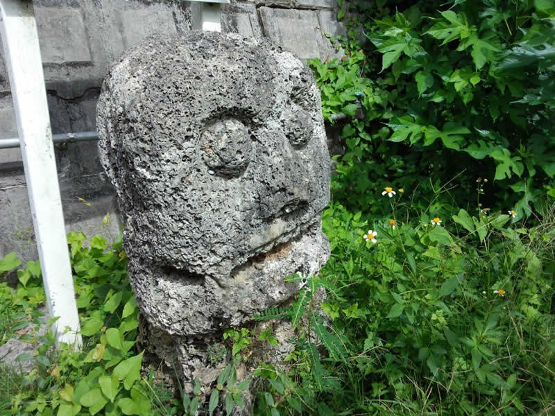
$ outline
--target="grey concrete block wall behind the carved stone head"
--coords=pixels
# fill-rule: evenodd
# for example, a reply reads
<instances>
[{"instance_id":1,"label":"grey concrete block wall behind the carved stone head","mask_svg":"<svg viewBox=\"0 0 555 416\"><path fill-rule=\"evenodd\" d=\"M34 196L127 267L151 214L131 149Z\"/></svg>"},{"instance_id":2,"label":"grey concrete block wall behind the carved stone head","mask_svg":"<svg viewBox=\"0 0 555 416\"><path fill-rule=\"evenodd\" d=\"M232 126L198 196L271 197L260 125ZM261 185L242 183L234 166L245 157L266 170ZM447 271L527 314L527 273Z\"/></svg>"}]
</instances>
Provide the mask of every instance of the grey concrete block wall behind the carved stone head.
<instances>
[{"instance_id":1,"label":"grey concrete block wall behind the carved stone head","mask_svg":"<svg viewBox=\"0 0 555 416\"><path fill-rule=\"evenodd\" d=\"M180 0L35 0L52 131L96 130L103 77L129 46L153 33L191 30L196 4ZM244 0L223 6L225 32L265 36L300 58L333 58L325 33L343 28L336 0ZM0 140L17 137L0 48ZM96 142L56 146L66 227L92 236L119 233L117 204L99 164ZM78 198L87 200L87 203ZM106 226L101 218L110 213ZM19 149L0 149L0 257L10 251L37 259Z\"/></svg>"}]
</instances>

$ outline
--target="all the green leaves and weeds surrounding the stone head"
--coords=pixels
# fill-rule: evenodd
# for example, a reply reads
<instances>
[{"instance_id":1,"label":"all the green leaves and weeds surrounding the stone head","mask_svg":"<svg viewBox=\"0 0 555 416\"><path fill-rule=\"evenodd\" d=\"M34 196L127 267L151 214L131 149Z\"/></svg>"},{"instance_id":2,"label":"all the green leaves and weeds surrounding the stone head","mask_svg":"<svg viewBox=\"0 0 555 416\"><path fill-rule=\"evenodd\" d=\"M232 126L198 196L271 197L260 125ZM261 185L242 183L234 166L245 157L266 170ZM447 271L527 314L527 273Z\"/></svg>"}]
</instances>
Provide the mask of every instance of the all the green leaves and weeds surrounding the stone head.
<instances>
[{"instance_id":1,"label":"all the green leaves and weeds surrounding the stone head","mask_svg":"<svg viewBox=\"0 0 555 416\"><path fill-rule=\"evenodd\" d=\"M291 277L297 299L255 327L225 331L210 395L196 383L177 399L139 372L121 240L71 233L85 347L53 354L49 333L28 332L44 291L37 262L19 268L17 288L0 284L1 342L25 329L34 368L0 367L0 414L231 414L247 389L256 415L553 413L555 2L339 5L344 58L309 62L345 148L321 273ZM0 273L20 263L10 253ZM238 381L255 345L283 347L271 325L257 331L272 320L296 329L293 349Z\"/></svg>"}]
</instances>

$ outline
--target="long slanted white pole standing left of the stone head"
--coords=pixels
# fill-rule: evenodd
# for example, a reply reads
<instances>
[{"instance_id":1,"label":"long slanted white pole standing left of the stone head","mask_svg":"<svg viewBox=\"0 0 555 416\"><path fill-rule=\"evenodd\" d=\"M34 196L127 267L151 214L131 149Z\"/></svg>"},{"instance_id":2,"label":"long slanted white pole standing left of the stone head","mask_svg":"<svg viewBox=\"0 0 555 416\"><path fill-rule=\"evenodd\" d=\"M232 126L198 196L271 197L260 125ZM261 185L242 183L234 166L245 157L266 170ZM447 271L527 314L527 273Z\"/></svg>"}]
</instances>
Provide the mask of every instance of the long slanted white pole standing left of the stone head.
<instances>
[{"instance_id":1,"label":"long slanted white pole standing left of the stone head","mask_svg":"<svg viewBox=\"0 0 555 416\"><path fill-rule=\"evenodd\" d=\"M0 0L0 30L46 302L58 343L81 345L33 1Z\"/></svg>"}]
</instances>

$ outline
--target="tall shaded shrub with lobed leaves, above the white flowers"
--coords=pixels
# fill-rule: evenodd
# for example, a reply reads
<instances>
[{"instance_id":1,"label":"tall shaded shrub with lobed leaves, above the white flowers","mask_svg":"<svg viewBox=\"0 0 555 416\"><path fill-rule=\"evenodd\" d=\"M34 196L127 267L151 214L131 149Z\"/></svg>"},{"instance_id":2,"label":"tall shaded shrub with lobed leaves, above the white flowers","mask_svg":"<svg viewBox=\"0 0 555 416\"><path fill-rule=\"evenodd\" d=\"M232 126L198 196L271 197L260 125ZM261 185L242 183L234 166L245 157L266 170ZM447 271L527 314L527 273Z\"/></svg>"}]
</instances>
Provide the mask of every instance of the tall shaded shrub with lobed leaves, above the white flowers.
<instances>
[{"instance_id":1,"label":"tall shaded shrub with lobed leaves, above the white flowers","mask_svg":"<svg viewBox=\"0 0 555 416\"><path fill-rule=\"evenodd\" d=\"M379 214L368 195L432 180L466 207L482 177L484 206L527 218L555 197L553 1L339 3L345 57L310 62L325 118L350 116L334 198Z\"/></svg>"}]
</instances>

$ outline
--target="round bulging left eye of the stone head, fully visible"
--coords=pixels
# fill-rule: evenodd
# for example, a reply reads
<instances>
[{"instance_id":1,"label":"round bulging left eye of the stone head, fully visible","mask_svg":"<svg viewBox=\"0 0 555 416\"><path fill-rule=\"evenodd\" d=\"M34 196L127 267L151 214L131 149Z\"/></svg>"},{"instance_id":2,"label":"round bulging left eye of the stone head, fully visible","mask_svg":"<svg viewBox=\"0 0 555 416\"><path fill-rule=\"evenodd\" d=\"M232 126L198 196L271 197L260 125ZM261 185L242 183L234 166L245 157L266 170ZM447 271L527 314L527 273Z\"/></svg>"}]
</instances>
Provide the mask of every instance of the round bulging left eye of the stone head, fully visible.
<instances>
[{"instance_id":1,"label":"round bulging left eye of the stone head, fully visible","mask_svg":"<svg viewBox=\"0 0 555 416\"><path fill-rule=\"evenodd\" d=\"M200 144L209 173L223 177L242 175L253 152L248 128L238 120L221 120L210 125L200 136Z\"/></svg>"}]
</instances>

